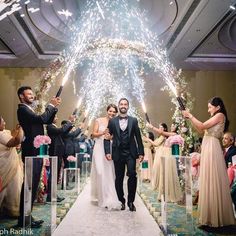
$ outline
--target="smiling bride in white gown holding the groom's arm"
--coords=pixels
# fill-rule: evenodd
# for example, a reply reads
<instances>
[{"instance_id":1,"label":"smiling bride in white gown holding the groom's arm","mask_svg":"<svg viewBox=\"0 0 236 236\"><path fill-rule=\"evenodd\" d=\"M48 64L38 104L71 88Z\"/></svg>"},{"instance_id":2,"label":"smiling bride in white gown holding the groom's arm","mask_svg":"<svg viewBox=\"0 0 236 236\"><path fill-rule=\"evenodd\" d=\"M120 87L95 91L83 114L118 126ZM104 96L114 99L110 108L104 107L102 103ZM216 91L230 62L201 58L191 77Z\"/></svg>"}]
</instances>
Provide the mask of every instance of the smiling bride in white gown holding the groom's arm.
<instances>
[{"instance_id":1,"label":"smiling bride in white gown holding the groom's arm","mask_svg":"<svg viewBox=\"0 0 236 236\"><path fill-rule=\"evenodd\" d=\"M93 128L95 145L91 170L91 200L108 209L121 207L115 189L114 164L112 160L106 159L103 144L104 136L108 135L108 121L115 117L117 112L116 105L108 105L107 116L96 119Z\"/></svg>"}]
</instances>

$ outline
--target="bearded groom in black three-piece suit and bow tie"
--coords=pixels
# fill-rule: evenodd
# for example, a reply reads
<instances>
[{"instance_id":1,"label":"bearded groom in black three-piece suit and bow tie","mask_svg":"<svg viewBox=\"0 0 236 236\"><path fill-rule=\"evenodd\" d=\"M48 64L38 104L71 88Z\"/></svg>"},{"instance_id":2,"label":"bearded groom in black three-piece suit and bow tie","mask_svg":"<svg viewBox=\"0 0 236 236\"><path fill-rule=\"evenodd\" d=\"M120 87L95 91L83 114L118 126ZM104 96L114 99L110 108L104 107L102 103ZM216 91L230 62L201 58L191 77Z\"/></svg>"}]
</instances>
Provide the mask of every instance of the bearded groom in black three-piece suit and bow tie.
<instances>
[{"instance_id":1,"label":"bearded groom in black three-piece suit and bow tie","mask_svg":"<svg viewBox=\"0 0 236 236\"><path fill-rule=\"evenodd\" d=\"M113 159L115 166L115 187L121 204L121 210L125 210L125 198L123 181L125 167L127 166L128 176L128 202L130 211L136 211L134 199L137 187L136 159L143 161L144 150L141 139L138 121L136 118L128 116L129 101L121 98L118 103L120 115L111 119L108 129L112 138L112 154L110 140L104 139L104 149L107 160Z\"/></svg>"}]
</instances>

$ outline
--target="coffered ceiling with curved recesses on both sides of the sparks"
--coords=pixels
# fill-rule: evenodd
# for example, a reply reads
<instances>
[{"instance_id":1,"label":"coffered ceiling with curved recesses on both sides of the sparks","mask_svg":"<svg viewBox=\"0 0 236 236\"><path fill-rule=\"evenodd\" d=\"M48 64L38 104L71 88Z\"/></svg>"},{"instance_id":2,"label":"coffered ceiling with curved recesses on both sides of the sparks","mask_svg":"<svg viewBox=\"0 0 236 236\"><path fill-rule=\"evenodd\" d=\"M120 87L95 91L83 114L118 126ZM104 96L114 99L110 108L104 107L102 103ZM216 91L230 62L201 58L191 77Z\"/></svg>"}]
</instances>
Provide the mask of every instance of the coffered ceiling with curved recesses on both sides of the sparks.
<instances>
[{"instance_id":1,"label":"coffered ceiling with curved recesses on both sides of the sparks","mask_svg":"<svg viewBox=\"0 0 236 236\"><path fill-rule=\"evenodd\" d=\"M0 67L48 66L69 46L70 26L79 19L85 2L0 0ZM149 28L177 68L236 70L236 10L230 8L236 7L236 0L129 2L145 10ZM66 16L66 9L71 16Z\"/></svg>"}]
</instances>

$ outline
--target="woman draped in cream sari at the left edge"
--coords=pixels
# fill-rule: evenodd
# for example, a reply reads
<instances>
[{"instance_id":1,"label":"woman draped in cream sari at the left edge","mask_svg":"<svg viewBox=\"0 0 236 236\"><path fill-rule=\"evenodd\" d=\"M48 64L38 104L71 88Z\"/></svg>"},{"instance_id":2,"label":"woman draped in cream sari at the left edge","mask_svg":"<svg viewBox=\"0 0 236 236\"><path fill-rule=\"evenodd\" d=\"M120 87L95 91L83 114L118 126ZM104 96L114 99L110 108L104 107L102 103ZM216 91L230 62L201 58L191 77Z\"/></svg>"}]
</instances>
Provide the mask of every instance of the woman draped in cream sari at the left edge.
<instances>
[{"instance_id":1,"label":"woman draped in cream sari at the left edge","mask_svg":"<svg viewBox=\"0 0 236 236\"><path fill-rule=\"evenodd\" d=\"M23 163L16 151L23 139L23 130L18 125L14 133L5 130L5 121L0 116L0 214L19 216L20 192L23 182Z\"/></svg>"}]
</instances>

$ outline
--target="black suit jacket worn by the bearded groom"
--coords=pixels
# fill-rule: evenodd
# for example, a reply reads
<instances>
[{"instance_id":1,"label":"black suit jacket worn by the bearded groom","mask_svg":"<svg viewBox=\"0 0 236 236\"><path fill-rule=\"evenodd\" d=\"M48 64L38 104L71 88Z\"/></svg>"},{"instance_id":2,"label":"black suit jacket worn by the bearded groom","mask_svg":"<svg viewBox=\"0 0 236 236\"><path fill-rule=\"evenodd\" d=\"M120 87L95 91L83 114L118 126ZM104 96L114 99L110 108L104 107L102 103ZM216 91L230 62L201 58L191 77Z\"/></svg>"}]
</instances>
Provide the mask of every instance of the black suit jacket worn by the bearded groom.
<instances>
[{"instance_id":1,"label":"black suit jacket worn by the bearded groom","mask_svg":"<svg viewBox=\"0 0 236 236\"><path fill-rule=\"evenodd\" d=\"M128 141L132 158L137 159L139 155L144 155L143 143L136 118L128 116ZM109 133L112 138L112 153L110 150L110 140L104 140L105 154L112 154L112 159L117 161L121 158L121 132L119 117L111 119L108 123Z\"/></svg>"}]
</instances>

